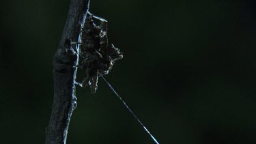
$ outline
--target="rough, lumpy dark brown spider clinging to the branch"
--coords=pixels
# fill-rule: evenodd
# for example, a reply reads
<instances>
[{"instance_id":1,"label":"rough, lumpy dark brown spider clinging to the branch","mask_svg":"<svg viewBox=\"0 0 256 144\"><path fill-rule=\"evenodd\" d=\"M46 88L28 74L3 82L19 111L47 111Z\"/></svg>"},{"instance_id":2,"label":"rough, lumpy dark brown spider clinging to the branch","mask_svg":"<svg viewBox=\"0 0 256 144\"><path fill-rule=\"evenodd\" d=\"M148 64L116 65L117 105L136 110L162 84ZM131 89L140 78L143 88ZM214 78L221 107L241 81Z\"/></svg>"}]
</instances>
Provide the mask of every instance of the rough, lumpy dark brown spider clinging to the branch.
<instances>
[{"instance_id":1,"label":"rough, lumpy dark brown spider clinging to the branch","mask_svg":"<svg viewBox=\"0 0 256 144\"><path fill-rule=\"evenodd\" d=\"M100 26L93 18L100 20ZM87 14L82 31L81 57L79 68L85 71L81 87L89 85L91 93L98 89L98 77L109 74L115 61L123 58L123 53L113 44L109 44L106 35L107 21L93 14Z\"/></svg>"}]
</instances>

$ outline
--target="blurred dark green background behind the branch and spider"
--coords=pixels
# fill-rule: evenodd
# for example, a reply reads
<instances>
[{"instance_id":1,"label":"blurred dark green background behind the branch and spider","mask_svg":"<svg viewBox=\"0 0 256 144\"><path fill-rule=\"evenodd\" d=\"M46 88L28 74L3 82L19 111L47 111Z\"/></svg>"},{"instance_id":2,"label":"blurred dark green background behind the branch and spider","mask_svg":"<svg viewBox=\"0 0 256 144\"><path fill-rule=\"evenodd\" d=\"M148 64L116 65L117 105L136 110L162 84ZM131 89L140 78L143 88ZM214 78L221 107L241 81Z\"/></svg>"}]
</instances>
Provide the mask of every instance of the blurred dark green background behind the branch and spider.
<instances>
[{"instance_id":1,"label":"blurred dark green background behind the branch and spider","mask_svg":"<svg viewBox=\"0 0 256 144\"><path fill-rule=\"evenodd\" d=\"M44 143L69 3L1 4L1 143ZM256 143L255 8L253 0L91 1L124 53L105 78L159 143ZM96 94L76 89L67 143L153 144L106 83L98 85Z\"/></svg>"}]
</instances>

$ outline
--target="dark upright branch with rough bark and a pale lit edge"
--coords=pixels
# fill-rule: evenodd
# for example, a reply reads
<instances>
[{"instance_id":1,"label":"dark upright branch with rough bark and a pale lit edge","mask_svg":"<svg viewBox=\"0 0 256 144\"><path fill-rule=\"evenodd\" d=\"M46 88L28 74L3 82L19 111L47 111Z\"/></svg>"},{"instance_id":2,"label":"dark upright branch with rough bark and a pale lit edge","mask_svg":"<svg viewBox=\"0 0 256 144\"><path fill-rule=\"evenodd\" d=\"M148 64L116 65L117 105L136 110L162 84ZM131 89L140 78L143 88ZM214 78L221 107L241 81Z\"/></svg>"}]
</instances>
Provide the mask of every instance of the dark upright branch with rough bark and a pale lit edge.
<instances>
[{"instance_id":1,"label":"dark upright branch with rough bark and a pale lit edge","mask_svg":"<svg viewBox=\"0 0 256 144\"><path fill-rule=\"evenodd\" d=\"M54 97L51 118L46 128L46 144L66 143L70 117L76 108L75 66L79 61L79 46L67 45L66 41L81 42L88 9L89 0L70 1L66 25L53 58Z\"/></svg>"}]
</instances>

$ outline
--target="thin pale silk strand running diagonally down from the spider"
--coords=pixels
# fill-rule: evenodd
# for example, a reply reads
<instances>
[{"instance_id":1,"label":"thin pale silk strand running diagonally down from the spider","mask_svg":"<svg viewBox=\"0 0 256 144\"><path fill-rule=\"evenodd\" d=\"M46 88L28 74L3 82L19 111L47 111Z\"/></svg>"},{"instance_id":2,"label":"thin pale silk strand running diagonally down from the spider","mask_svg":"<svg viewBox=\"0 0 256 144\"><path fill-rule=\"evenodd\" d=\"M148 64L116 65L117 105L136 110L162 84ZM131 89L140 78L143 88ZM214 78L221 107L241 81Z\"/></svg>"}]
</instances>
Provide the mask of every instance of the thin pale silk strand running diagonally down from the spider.
<instances>
[{"instance_id":1,"label":"thin pale silk strand running diagonally down from the spider","mask_svg":"<svg viewBox=\"0 0 256 144\"><path fill-rule=\"evenodd\" d=\"M152 137L152 139L154 140L154 142L156 144L159 144L158 141L156 141L156 139L154 138L154 136L150 133L149 130L147 130L147 128L144 126L144 124L139 120L139 118L132 112L132 110L130 110L130 108L128 107L128 105L126 104L126 102L124 102L124 100L119 96L119 94L115 91L115 89L110 85L110 83L108 81L106 81L106 79L101 76L102 79L106 82L107 85L109 85L109 87L112 89L112 91L115 93L115 95L122 101L122 103L124 104L124 106L126 106L126 109L128 109L128 111L130 111L130 113L132 113L132 115L135 117L135 119L137 119L137 121L139 121L139 124L141 124L141 126L143 126L144 130L150 134L150 136Z\"/></svg>"}]
</instances>

